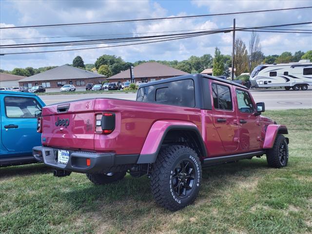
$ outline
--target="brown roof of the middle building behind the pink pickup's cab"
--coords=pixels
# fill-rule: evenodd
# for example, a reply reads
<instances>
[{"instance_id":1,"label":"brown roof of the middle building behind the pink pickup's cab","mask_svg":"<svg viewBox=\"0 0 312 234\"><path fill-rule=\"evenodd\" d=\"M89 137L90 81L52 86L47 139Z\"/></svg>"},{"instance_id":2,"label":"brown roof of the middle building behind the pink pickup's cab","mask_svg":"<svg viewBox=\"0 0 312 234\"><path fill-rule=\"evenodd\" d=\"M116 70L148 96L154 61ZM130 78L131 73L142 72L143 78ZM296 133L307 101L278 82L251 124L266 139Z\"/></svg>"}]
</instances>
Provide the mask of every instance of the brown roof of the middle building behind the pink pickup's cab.
<instances>
[{"instance_id":1,"label":"brown roof of the middle building behind the pink pickup's cab","mask_svg":"<svg viewBox=\"0 0 312 234\"><path fill-rule=\"evenodd\" d=\"M135 78L148 77L177 77L188 75L189 73L180 71L176 68L163 65L158 62L145 62L133 68ZM120 72L108 79L123 79L130 78L130 69Z\"/></svg>"}]
</instances>

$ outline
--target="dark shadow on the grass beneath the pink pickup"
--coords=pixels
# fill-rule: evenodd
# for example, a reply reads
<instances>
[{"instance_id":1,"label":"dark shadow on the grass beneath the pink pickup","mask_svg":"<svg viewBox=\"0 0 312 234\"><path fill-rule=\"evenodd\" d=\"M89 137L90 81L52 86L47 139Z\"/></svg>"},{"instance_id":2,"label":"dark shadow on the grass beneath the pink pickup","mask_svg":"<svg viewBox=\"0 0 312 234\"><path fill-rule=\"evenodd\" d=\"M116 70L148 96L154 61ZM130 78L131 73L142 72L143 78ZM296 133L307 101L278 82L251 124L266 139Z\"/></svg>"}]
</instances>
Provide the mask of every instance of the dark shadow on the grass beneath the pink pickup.
<instances>
[{"instance_id":1,"label":"dark shadow on the grass beneath the pink pickup","mask_svg":"<svg viewBox=\"0 0 312 234\"><path fill-rule=\"evenodd\" d=\"M235 176L235 178L238 176L246 178L255 175L264 176L264 169L269 169L267 163L265 160L259 159L206 167L203 169L202 191L200 194L217 194L218 190L235 183L233 180L229 181L231 176ZM261 171L262 173L260 173ZM200 199L200 194L198 199ZM123 206L128 204L129 200L134 203L149 204L150 209L155 207L150 190L150 181L147 176L133 178L128 175L121 181L107 185L94 185L90 182L90 184L86 184L86 186L74 191L64 191L61 196L76 208L89 211L97 210L99 204L103 207L112 203L116 203L114 209L123 209Z\"/></svg>"}]
</instances>

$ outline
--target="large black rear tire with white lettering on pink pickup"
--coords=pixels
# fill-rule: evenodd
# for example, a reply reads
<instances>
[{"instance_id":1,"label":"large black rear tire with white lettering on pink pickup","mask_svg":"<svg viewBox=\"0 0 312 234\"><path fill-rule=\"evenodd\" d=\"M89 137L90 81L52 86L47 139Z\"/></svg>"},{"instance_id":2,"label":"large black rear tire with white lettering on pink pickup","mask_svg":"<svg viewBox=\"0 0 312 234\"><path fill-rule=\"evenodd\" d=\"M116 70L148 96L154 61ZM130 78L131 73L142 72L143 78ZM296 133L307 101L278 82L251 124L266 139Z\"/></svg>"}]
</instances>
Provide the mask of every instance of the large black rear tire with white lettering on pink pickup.
<instances>
[{"instance_id":1,"label":"large black rear tire with white lettering on pink pickup","mask_svg":"<svg viewBox=\"0 0 312 234\"><path fill-rule=\"evenodd\" d=\"M193 167L191 172L194 171L192 175L194 180L189 178L189 181L193 181L192 188L188 192L185 190L185 197L176 195L176 191L174 191L175 183L179 182L177 181L178 178L175 178L175 172L181 162L191 163L189 164ZM172 145L160 150L156 162L152 165L151 190L160 206L171 211L177 211L195 201L201 178L201 164L196 152L184 145Z\"/></svg>"}]
</instances>

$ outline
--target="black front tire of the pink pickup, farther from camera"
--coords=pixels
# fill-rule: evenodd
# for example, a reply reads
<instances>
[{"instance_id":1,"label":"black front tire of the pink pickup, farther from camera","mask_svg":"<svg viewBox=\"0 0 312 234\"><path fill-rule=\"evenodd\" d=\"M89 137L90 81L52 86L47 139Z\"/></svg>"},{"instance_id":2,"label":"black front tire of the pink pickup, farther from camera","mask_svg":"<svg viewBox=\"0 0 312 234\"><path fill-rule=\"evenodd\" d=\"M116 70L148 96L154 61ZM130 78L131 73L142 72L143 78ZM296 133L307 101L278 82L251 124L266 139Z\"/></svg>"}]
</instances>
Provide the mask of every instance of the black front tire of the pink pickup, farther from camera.
<instances>
[{"instance_id":1,"label":"black front tire of the pink pickup, farther from camera","mask_svg":"<svg viewBox=\"0 0 312 234\"><path fill-rule=\"evenodd\" d=\"M281 154L280 147L282 147L282 144L285 148L284 160L281 160L279 157ZM286 167L288 163L288 156L288 145L286 138L283 135L278 134L275 138L273 148L267 151L267 162L269 166L273 168Z\"/></svg>"}]
</instances>

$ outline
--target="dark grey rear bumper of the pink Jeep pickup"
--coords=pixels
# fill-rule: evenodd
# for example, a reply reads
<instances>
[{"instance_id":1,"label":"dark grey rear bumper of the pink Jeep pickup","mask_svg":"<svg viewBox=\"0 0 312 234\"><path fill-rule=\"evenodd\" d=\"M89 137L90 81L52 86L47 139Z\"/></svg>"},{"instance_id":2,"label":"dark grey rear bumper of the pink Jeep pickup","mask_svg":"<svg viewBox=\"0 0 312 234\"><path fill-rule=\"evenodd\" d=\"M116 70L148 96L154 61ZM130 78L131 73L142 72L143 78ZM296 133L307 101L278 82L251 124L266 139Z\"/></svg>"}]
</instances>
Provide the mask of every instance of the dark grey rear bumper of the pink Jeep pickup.
<instances>
[{"instance_id":1,"label":"dark grey rear bumper of the pink Jeep pickup","mask_svg":"<svg viewBox=\"0 0 312 234\"><path fill-rule=\"evenodd\" d=\"M50 147L36 146L33 148L33 156L44 164L70 172L100 173L106 168L117 165L137 163L138 155L120 155L115 153L94 153L86 151L70 151L67 164L58 162L58 150ZM87 166L87 158L90 166Z\"/></svg>"}]
</instances>

